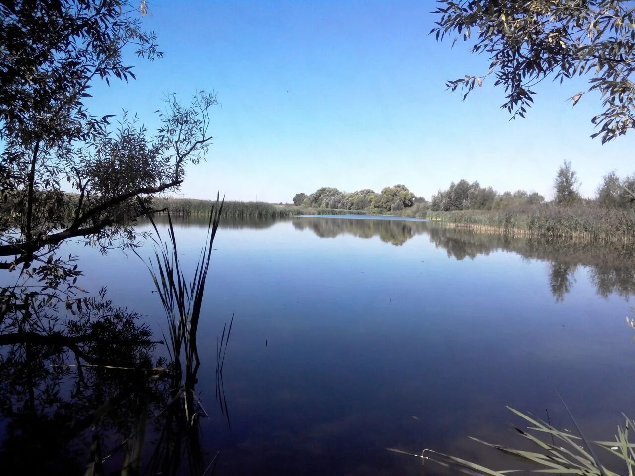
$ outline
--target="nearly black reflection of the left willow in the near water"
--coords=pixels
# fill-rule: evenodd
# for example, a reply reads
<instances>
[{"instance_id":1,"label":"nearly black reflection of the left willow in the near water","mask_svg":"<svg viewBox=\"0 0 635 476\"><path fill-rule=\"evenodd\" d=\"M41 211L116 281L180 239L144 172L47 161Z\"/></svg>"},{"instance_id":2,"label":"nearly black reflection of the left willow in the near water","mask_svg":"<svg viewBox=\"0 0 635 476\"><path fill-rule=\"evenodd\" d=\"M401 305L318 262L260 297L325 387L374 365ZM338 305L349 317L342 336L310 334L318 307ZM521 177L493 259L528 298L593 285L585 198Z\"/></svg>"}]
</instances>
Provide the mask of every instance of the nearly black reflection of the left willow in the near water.
<instances>
[{"instance_id":1,"label":"nearly black reflection of the left willow in the near water","mask_svg":"<svg viewBox=\"0 0 635 476\"><path fill-rule=\"evenodd\" d=\"M136 314L104 309L44 345L27 333L2 348L3 472L175 475L185 464L202 474L199 422L185 414L173 364L156 359Z\"/></svg>"}]
</instances>

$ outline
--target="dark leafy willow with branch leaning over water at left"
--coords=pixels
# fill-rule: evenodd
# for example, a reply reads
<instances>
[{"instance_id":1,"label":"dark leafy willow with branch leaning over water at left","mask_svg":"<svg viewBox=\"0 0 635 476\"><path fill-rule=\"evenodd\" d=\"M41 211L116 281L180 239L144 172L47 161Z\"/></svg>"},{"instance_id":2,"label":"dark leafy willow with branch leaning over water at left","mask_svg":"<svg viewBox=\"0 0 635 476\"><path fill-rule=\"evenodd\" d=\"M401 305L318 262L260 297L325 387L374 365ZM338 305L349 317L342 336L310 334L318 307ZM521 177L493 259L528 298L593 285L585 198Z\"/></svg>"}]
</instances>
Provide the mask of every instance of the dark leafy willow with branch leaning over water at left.
<instances>
[{"instance_id":1,"label":"dark leafy willow with branch leaning over water at left","mask_svg":"<svg viewBox=\"0 0 635 476\"><path fill-rule=\"evenodd\" d=\"M152 196L180 187L185 165L208 150L214 95L199 93L187 107L166 96L154 135L125 113L113 129L112 115L93 116L84 104L96 81L135 79L126 52L163 55L142 29L145 1L138 7L0 3L0 268L16 283L0 288L0 333L52 332L46 317L54 320L60 303L81 313L81 271L60 245L83 237L102 251L135 246L133 224Z\"/></svg>"}]
</instances>

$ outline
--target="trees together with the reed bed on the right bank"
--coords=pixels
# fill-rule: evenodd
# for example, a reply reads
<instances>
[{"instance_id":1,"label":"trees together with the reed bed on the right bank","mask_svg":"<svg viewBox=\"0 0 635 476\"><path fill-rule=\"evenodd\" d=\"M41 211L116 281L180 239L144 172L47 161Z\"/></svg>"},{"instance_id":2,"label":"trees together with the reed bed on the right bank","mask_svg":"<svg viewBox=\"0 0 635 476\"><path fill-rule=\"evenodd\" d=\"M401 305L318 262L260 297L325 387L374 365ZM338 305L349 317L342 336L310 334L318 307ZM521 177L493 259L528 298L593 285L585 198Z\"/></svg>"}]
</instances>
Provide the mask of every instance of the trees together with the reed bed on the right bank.
<instances>
[{"instance_id":1,"label":"trees together with the reed bed on the right bank","mask_svg":"<svg viewBox=\"0 0 635 476\"><path fill-rule=\"evenodd\" d=\"M462 180L432 197L427 216L513 235L623 243L635 239L635 175L606 174L592 199L582 198L578 188L570 162L558 169L551 202L522 190L499 195Z\"/></svg>"}]
</instances>

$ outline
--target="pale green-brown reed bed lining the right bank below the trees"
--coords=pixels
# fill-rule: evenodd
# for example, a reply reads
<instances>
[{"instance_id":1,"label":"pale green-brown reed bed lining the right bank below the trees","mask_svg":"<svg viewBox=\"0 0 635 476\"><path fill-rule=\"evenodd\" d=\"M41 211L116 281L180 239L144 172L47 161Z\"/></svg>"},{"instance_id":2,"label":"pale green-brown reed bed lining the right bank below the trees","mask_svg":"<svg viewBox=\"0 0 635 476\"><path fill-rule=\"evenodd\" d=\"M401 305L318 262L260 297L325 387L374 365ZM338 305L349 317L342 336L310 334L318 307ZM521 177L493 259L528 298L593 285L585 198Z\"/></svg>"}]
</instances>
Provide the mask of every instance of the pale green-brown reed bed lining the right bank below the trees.
<instances>
[{"instance_id":1,"label":"pale green-brown reed bed lining the right bank below the trees","mask_svg":"<svg viewBox=\"0 0 635 476\"><path fill-rule=\"evenodd\" d=\"M635 220L631 212L594 204L572 207L546 204L492 211L430 211L427 218L456 227L513 236L623 244L635 239Z\"/></svg>"}]
</instances>

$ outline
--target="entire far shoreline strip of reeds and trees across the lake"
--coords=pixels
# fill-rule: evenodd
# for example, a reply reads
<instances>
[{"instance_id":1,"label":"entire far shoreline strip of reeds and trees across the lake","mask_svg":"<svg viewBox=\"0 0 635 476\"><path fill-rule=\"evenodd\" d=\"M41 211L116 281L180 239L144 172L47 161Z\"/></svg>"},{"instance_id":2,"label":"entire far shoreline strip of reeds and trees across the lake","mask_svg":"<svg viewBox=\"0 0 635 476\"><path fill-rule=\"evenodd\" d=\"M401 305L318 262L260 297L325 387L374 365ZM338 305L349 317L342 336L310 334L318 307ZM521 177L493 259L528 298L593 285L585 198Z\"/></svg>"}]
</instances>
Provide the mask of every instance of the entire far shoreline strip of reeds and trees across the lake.
<instances>
[{"instance_id":1,"label":"entire far shoreline strip of reeds and trees across the lake","mask_svg":"<svg viewBox=\"0 0 635 476\"><path fill-rule=\"evenodd\" d=\"M631 190L635 174L620 177L607 173L592 199L578 193L580 186L570 162L563 162L554 179L554 199L536 192L516 190L499 193L467 180L451 183L427 201L404 185L373 190L341 192L323 187L312 194L300 193L293 203L225 202L223 215L233 218L281 218L295 215L392 215L440 220L474 230L547 239L630 243L635 237ZM156 209L173 215L209 213L211 201L161 197Z\"/></svg>"}]
</instances>

